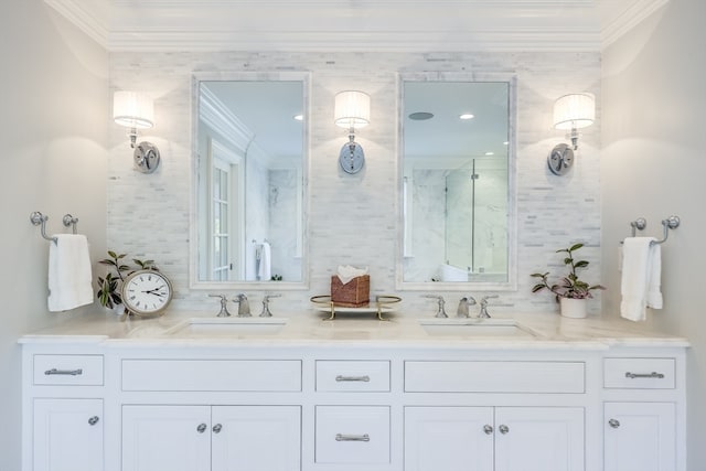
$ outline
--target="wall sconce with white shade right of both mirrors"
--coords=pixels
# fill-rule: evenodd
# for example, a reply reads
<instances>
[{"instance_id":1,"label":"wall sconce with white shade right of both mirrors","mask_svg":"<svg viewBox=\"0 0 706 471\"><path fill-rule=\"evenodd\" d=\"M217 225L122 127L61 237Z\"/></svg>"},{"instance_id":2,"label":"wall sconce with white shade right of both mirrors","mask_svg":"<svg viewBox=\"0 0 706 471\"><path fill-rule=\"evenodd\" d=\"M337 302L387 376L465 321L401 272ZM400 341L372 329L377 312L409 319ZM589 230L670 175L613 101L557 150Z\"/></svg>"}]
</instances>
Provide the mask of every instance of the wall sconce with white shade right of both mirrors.
<instances>
[{"instance_id":1,"label":"wall sconce with white shade right of both mirrors","mask_svg":"<svg viewBox=\"0 0 706 471\"><path fill-rule=\"evenodd\" d=\"M589 93L569 94L554 103L554 128L570 130L566 135L571 147L560 143L552 149L547 157L549 170L555 175L563 175L574 164L574 151L578 150L578 129L586 128L596 119L596 97Z\"/></svg>"}]
</instances>

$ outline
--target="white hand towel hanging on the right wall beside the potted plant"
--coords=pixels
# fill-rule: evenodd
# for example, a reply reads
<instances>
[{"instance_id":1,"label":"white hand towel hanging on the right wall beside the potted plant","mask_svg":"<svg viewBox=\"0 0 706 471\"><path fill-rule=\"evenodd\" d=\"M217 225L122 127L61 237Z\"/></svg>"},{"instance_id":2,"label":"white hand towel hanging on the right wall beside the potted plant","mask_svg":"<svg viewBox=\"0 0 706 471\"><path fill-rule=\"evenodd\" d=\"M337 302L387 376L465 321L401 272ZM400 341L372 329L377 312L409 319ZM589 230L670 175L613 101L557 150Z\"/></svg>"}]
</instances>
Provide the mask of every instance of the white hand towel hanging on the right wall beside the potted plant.
<instances>
[{"instance_id":1,"label":"white hand towel hanging on the right wall beside the potted plant","mask_svg":"<svg viewBox=\"0 0 706 471\"><path fill-rule=\"evenodd\" d=\"M649 292L652 302L662 306L660 292L660 247L651 244L654 237L628 237L622 246L622 280L620 315L631 321L644 321L649 306ZM655 307L656 306L651 306Z\"/></svg>"}]
</instances>

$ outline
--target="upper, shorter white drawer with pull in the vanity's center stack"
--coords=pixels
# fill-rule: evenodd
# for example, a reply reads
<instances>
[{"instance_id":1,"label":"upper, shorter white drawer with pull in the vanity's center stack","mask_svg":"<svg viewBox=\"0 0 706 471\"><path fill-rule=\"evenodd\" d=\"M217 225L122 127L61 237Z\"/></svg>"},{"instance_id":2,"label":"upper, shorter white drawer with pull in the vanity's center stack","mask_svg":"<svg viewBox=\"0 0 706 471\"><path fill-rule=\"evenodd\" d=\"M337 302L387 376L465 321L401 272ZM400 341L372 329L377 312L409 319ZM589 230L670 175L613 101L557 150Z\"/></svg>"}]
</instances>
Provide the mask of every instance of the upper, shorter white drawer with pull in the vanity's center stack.
<instances>
[{"instance_id":1,"label":"upper, shorter white drawer with pull in the vanity's center stack","mask_svg":"<svg viewBox=\"0 0 706 471\"><path fill-rule=\"evenodd\" d=\"M317 361L317 390L387 392L389 362Z\"/></svg>"}]
</instances>

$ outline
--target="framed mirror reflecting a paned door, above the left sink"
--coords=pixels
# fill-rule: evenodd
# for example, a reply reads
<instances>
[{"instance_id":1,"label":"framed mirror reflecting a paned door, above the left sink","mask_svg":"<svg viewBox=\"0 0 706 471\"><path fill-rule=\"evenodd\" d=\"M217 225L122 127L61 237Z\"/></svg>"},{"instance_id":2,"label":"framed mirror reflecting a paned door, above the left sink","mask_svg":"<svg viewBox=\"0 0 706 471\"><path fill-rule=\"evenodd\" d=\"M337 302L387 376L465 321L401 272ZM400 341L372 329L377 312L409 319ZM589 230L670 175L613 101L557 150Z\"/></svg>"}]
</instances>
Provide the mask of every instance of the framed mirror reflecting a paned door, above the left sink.
<instances>
[{"instance_id":1,"label":"framed mirror reflecting a paned door, above the left sink","mask_svg":"<svg viewBox=\"0 0 706 471\"><path fill-rule=\"evenodd\" d=\"M193 78L191 287L304 289L309 76Z\"/></svg>"}]
</instances>

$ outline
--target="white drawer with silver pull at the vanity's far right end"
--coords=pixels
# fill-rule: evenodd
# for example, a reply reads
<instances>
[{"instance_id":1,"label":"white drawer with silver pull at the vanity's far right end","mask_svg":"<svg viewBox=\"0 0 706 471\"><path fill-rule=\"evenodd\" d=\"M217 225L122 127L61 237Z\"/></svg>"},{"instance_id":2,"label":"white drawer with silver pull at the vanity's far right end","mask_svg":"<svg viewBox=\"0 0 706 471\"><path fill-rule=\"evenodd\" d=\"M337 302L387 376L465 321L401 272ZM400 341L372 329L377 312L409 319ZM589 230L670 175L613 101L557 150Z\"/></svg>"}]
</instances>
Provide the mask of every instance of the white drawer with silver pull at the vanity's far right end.
<instances>
[{"instance_id":1,"label":"white drawer with silver pull at the vanity's far right end","mask_svg":"<svg viewBox=\"0 0 706 471\"><path fill-rule=\"evenodd\" d=\"M674 389L674 358L605 358L603 387Z\"/></svg>"}]
</instances>

